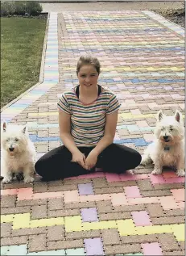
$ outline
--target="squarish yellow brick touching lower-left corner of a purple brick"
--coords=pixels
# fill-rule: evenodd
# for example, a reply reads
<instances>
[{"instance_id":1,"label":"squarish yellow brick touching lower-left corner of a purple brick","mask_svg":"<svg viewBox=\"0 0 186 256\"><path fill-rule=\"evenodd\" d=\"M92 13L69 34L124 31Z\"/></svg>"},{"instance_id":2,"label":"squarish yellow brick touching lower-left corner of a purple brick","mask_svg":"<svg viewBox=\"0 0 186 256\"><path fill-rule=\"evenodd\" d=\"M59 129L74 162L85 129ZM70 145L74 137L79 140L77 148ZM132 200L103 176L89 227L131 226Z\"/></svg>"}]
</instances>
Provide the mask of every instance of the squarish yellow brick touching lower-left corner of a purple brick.
<instances>
[{"instance_id":1,"label":"squarish yellow brick touching lower-left corner of a purple brick","mask_svg":"<svg viewBox=\"0 0 186 256\"><path fill-rule=\"evenodd\" d=\"M64 226L65 226L66 232L82 231L81 216L64 217Z\"/></svg>"}]
</instances>

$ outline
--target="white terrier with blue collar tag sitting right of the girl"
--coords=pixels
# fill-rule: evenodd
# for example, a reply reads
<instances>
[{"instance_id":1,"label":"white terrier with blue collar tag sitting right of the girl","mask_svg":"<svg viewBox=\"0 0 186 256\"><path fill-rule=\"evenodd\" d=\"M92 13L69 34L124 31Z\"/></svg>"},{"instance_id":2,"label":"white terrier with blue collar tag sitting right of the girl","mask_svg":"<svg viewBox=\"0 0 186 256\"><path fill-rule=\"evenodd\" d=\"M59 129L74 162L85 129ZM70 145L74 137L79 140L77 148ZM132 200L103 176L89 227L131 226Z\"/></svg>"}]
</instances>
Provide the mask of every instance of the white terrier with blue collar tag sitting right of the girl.
<instances>
[{"instance_id":1,"label":"white terrier with blue collar tag sitting right of the girl","mask_svg":"<svg viewBox=\"0 0 186 256\"><path fill-rule=\"evenodd\" d=\"M171 116L158 112L155 138L144 151L141 165L153 162L152 174L161 174L163 166L172 166L178 176L184 176L184 123L180 111Z\"/></svg>"}]
</instances>

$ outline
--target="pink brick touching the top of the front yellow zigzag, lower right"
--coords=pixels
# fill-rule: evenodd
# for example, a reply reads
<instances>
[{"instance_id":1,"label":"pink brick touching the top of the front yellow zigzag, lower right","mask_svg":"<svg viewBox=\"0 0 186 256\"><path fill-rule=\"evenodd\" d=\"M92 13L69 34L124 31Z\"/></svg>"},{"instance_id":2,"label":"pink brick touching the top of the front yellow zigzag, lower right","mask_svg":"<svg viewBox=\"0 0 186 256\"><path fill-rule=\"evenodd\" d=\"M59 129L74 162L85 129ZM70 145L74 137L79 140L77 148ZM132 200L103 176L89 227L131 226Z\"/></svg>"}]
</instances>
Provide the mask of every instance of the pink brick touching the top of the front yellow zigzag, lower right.
<instances>
[{"instance_id":1,"label":"pink brick touching the top of the front yellow zigzag, lower right","mask_svg":"<svg viewBox=\"0 0 186 256\"><path fill-rule=\"evenodd\" d=\"M136 226L149 226L151 225L151 220L147 214L147 211L131 212Z\"/></svg>"}]
</instances>

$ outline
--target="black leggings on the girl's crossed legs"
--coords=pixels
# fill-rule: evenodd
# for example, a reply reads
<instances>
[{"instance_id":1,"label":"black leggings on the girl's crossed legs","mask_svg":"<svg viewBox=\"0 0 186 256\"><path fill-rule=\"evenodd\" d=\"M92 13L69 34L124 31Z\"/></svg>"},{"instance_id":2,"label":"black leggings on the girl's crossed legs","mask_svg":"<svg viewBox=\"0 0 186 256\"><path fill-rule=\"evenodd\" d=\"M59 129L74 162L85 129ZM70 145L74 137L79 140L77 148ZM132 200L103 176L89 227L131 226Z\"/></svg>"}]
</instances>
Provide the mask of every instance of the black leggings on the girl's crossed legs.
<instances>
[{"instance_id":1,"label":"black leggings on the girl's crossed legs","mask_svg":"<svg viewBox=\"0 0 186 256\"><path fill-rule=\"evenodd\" d=\"M87 157L93 147L78 147L78 149ZM121 174L137 167L141 159L140 153L136 150L124 145L111 144L97 157L96 167L101 168L103 172ZM85 170L81 165L71 162L71 160L72 153L63 145L44 154L35 163L35 171L45 180L68 178L95 171L95 168Z\"/></svg>"}]
</instances>

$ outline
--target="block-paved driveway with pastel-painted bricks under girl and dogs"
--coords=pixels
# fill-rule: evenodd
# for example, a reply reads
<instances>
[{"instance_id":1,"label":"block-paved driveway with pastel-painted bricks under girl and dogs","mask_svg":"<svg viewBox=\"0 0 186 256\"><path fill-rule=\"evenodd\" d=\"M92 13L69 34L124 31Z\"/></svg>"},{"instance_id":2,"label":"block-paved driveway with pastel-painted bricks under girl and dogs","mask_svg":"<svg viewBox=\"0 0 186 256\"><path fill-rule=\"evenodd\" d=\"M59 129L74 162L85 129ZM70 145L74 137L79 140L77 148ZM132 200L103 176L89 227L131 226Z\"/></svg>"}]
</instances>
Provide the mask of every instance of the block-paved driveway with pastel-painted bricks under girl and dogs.
<instances>
[{"instance_id":1,"label":"block-paved driveway with pastel-painted bricks under girl and dogs","mask_svg":"<svg viewBox=\"0 0 186 256\"><path fill-rule=\"evenodd\" d=\"M84 53L122 103L114 141L143 153L157 110L184 112L184 31L149 11L52 13L43 82L2 119L27 122L38 157L60 145L56 103ZM1 254L184 255L184 178L151 171L2 186Z\"/></svg>"}]
</instances>

